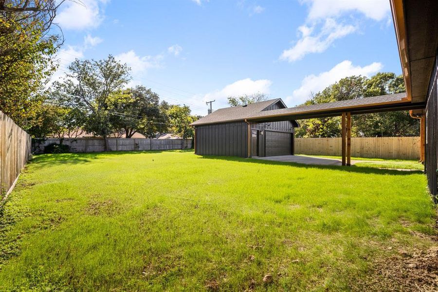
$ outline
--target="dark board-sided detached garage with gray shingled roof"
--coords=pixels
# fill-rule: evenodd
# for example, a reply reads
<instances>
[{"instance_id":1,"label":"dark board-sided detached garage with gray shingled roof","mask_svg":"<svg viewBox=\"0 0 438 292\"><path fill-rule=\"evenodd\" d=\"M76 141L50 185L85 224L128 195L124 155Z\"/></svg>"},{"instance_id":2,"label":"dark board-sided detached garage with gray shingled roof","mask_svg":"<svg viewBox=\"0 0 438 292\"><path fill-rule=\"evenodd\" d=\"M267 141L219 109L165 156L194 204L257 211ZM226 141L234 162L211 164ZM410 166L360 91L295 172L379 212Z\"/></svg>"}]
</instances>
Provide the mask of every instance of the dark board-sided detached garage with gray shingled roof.
<instances>
[{"instance_id":1,"label":"dark board-sided detached garage with gray shingled roof","mask_svg":"<svg viewBox=\"0 0 438 292\"><path fill-rule=\"evenodd\" d=\"M263 157L293 154L294 120L257 123L262 111L286 109L280 98L216 110L191 125L195 154Z\"/></svg>"}]
</instances>

